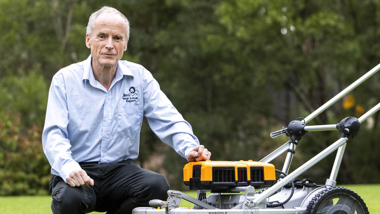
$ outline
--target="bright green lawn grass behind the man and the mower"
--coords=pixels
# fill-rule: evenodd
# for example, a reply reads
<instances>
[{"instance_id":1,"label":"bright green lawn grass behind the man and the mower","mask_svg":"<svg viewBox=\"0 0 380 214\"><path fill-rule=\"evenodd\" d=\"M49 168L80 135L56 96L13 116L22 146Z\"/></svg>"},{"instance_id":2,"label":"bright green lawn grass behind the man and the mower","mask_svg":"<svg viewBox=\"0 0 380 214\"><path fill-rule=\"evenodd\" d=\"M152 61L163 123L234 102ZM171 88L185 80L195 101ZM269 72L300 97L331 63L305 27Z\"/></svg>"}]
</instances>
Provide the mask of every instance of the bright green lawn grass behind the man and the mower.
<instances>
[{"instance_id":1,"label":"bright green lawn grass behind the man and the mower","mask_svg":"<svg viewBox=\"0 0 380 214\"><path fill-rule=\"evenodd\" d=\"M380 184L344 185L358 193L366 202L370 214L380 214ZM196 196L195 191L185 192ZM9 196L0 197L0 214L51 214L51 196ZM181 207L192 207L193 204L182 200ZM92 212L96 214L100 212ZM103 212L104 213L104 212Z\"/></svg>"}]
</instances>

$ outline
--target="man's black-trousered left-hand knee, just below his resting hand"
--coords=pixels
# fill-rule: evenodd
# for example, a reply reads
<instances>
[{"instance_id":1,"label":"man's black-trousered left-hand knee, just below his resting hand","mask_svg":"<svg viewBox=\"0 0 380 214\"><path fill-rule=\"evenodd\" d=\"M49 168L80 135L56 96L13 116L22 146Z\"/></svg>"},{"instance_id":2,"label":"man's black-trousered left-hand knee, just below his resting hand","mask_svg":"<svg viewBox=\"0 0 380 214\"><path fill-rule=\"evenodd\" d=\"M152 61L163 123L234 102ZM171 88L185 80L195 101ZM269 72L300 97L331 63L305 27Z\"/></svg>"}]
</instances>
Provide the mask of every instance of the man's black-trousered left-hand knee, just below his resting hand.
<instances>
[{"instance_id":1,"label":"man's black-trousered left-hand knee, just below his resting hand","mask_svg":"<svg viewBox=\"0 0 380 214\"><path fill-rule=\"evenodd\" d=\"M54 214L86 213L86 193L83 187L66 186L53 192L51 210Z\"/></svg>"}]
</instances>

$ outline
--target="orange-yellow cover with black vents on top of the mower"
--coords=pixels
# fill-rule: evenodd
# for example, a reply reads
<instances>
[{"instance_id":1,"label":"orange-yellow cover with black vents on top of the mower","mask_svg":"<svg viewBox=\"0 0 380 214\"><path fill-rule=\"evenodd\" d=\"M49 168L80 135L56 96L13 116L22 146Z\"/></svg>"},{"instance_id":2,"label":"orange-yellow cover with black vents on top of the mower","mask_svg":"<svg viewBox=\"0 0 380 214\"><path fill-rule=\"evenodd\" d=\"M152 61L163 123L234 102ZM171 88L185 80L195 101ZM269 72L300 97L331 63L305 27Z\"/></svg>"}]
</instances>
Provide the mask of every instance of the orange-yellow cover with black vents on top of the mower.
<instances>
[{"instance_id":1,"label":"orange-yellow cover with black vents on top of the mower","mask_svg":"<svg viewBox=\"0 0 380 214\"><path fill-rule=\"evenodd\" d=\"M190 190L228 192L231 187L272 185L274 165L257 161L198 161L184 166L184 183Z\"/></svg>"}]
</instances>

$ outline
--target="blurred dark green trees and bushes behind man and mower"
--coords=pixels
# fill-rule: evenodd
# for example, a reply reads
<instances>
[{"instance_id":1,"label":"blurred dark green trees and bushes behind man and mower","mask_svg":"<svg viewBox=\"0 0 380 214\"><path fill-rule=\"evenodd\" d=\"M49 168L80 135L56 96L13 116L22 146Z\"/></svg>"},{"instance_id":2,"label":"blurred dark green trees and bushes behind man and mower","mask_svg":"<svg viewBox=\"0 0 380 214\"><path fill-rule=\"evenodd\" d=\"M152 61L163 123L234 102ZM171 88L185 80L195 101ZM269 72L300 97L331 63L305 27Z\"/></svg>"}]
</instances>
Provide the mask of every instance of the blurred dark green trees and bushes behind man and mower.
<instances>
[{"instance_id":1,"label":"blurred dark green trees and bushes behind man and mower","mask_svg":"<svg viewBox=\"0 0 380 214\"><path fill-rule=\"evenodd\" d=\"M51 78L85 60L85 27L99 0L0 0L0 195L44 195L50 166L41 132ZM131 22L123 60L160 83L212 160L260 160L286 136L269 133L306 117L380 62L379 0L109 0ZM380 100L375 75L308 125L359 117ZM340 184L378 183L378 113L348 142ZM309 133L292 169L336 141ZM302 178L325 182L334 154ZM282 169L284 156L272 163ZM187 161L144 121L142 167L187 189Z\"/></svg>"}]
</instances>

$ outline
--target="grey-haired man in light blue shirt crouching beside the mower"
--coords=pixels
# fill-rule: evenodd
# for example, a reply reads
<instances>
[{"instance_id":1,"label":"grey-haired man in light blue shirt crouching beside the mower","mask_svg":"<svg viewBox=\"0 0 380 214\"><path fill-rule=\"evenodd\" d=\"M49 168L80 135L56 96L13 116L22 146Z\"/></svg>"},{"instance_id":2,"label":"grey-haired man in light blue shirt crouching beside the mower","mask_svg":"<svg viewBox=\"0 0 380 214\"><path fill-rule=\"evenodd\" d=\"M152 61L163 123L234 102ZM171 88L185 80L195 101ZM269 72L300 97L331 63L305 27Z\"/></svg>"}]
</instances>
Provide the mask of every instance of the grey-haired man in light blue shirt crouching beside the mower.
<instances>
[{"instance_id":1,"label":"grey-haired man in light blue shirt crouching beside the mower","mask_svg":"<svg viewBox=\"0 0 380 214\"><path fill-rule=\"evenodd\" d=\"M51 164L53 213L131 213L149 200L166 200L169 185L141 169L142 117L154 133L188 161L209 160L191 126L141 65L120 61L127 50L129 22L114 8L89 18L86 61L57 72L49 90L43 149ZM127 96L133 93L139 96ZM132 91L130 91L132 93Z\"/></svg>"}]
</instances>

